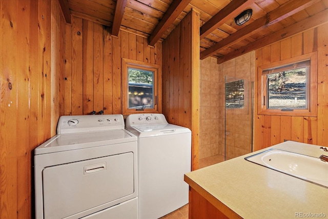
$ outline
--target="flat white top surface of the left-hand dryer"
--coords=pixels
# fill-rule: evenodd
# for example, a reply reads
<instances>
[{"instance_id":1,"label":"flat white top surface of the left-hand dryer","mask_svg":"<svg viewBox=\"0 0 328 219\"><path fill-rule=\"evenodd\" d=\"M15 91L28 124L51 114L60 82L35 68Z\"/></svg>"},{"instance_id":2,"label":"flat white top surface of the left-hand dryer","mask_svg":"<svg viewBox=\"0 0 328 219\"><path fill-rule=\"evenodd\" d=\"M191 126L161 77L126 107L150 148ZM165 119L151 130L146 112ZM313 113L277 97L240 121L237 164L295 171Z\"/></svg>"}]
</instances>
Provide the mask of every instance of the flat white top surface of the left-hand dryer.
<instances>
[{"instance_id":1,"label":"flat white top surface of the left-hand dryer","mask_svg":"<svg viewBox=\"0 0 328 219\"><path fill-rule=\"evenodd\" d=\"M57 134L35 148L34 154L54 153L134 141L137 141L137 137L124 129L61 135Z\"/></svg>"}]
</instances>

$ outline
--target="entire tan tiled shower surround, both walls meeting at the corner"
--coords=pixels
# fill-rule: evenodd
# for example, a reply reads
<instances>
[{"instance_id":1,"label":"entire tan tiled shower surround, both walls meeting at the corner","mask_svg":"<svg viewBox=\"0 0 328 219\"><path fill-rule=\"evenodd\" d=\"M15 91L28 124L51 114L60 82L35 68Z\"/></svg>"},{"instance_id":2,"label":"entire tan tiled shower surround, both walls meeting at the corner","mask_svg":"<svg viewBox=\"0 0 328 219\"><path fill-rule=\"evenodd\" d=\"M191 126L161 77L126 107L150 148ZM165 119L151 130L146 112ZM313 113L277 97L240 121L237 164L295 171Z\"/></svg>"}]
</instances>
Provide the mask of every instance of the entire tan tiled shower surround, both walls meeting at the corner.
<instances>
[{"instance_id":1,"label":"entire tan tiled shower surround, both walls meeting at the corner","mask_svg":"<svg viewBox=\"0 0 328 219\"><path fill-rule=\"evenodd\" d=\"M225 76L254 82L255 52L241 55L220 65L216 63L214 57L200 61L200 159L224 155L225 137L227 137L227 160L251 152L250 148L253 145L251 108L246 111L230 110L227 113L226 135Z\"/></svg>"}]
</instances>

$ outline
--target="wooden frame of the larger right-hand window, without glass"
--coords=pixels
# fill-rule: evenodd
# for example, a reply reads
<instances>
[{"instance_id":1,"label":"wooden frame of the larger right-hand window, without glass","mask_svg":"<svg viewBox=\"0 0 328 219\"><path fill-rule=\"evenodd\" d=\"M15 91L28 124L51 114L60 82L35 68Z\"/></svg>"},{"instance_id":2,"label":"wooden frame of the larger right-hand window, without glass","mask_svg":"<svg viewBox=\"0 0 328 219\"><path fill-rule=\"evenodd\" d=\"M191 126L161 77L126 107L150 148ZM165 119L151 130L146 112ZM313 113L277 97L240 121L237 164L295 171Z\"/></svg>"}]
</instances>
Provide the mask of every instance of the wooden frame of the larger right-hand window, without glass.
<instances>
[{"instance_id":1,"label":"wooden frame of the larger right-hand window, without glass","mask_svg":"<svg viewBox=\"0 0 328 219\"><path fill-rule=\"evenodd\" d=\"M293 109L293 111L284 111L281 109L267 108L267 75L265 70L272 68L279 68L294 63L303 62L310 59L310 71L308 72L308 81L306 82L306 101L308 102L308 109ZM317 52L300 55L297 57L285 59L283 61L262 65L258 67L258 114L259 115L289 115L289 116L317 116L317 86L318 86L318 71L317 71ZM264 71L264 73L263 73Z\"/></svg>"}]
</instances>

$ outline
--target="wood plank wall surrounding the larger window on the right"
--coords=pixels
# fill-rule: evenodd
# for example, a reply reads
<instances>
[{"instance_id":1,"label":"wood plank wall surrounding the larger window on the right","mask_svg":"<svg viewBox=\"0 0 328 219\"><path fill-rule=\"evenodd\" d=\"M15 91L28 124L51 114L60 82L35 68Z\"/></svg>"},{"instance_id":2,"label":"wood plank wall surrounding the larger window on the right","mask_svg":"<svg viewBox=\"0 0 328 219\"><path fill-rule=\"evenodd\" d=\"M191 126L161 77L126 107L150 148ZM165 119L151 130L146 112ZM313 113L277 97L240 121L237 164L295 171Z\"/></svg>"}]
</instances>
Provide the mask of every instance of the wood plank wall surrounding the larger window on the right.
<instances>
[{"instance_id":1,"label":"wood plank wall surrounding the larger window on the right","mask_svg":"<svg viewBox=\"0 0 328 219\"><path fill-rule=\"evenodd\" d=\"M266 148L284 140L328 146L328 25L304 31L256 50L256 66L318 52L318 113L308 116L271 116L257 114L255 107L254 149ZM256 73L257 74L257 73ZM258 81L255 87L258 87ZM257 95L255 94L255 106Z\"/></svg>"}]
</instances>

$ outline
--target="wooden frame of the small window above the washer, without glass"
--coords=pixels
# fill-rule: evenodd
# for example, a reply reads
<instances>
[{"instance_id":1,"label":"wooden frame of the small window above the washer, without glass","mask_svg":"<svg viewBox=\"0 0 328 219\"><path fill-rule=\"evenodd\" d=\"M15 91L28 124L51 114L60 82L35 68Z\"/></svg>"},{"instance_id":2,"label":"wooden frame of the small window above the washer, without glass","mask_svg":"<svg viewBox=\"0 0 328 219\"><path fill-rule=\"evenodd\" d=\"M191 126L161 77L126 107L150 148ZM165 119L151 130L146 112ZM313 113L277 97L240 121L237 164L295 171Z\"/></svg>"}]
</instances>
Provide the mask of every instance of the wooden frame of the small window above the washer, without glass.
<instances>
[{"instance_id":1,"label":"wooden frame of the small window above the washer, without glass","mask_svg":"<svg viewBox=\"0 0 328 219\"><path fill-rule=\"evenodd\" d=\"M149 109L129 109L129 68L154 72L153 82L153 103L154 108ZM130 115L135 113L161 113L161 66L128 58L122 58L122 114Z\"/></svg>"}]
</instances>

